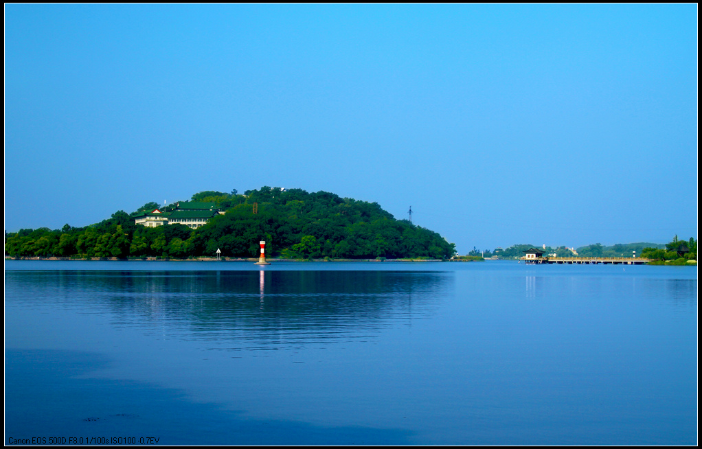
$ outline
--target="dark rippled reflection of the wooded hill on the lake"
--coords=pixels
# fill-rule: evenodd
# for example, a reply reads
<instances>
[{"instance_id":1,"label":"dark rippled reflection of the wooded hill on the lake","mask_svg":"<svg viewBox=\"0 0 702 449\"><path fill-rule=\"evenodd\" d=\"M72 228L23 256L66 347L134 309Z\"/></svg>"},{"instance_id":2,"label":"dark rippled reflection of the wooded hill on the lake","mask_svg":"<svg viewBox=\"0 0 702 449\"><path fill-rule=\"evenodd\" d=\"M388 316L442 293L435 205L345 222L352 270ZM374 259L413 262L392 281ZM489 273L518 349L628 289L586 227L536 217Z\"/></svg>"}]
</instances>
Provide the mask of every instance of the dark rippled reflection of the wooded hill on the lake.
<instances>
[{"instance_id":1,"label":"dark rippled reflection of the wooded hill on the lake","mask_svg":"<svg viewBox=\"0 0 702 449\"><path fill-rule=\"evenodd\" d=\"M159 323L213 348L284 347L365 338L426 316L453 276L443 272L9 272L11 300L107 307L120 326ZM366 329L364 332L360 332Z\"/></svg>"}]
</instances>

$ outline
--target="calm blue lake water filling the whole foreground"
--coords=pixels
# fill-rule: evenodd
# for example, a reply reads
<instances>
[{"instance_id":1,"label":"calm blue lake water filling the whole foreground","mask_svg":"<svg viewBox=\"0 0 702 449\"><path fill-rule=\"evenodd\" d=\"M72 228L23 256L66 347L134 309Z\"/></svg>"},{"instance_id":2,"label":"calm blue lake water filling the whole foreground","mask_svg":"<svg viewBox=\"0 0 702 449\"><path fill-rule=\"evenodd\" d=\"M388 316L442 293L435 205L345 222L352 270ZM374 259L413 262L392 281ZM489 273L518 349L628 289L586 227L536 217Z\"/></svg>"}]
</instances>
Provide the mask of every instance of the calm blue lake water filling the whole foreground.
<instances>
[{"instance_id":1,"label":"calm blue lake water filling the whole foreground","mask_svg":"<svg viewBox=\"0 0 702 449\"><path fill-rule=\"evenodd\" d=\"M696 445L697 269L6 261L5 376L6 445Z\"/></svg>"}]
</instances>

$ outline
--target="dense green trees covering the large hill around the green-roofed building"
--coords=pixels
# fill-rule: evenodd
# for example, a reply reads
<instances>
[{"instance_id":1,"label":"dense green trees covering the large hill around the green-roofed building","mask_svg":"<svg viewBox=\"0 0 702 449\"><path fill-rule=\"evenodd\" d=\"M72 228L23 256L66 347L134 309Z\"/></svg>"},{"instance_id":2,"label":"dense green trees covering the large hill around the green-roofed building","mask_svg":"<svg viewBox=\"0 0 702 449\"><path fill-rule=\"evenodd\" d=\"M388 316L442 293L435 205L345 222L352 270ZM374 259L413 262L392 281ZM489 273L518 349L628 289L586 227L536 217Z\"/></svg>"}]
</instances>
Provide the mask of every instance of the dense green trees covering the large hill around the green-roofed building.
<instances>
[{"instance_id":1,"label":"dense green trees covering the large hill around the green-roofed building","mask_svg":"<svg viewBox=\"0 0 702 449\"><path fill-rule=\"evenodd\" d=\"M455 245L429 229L395 220L378 203L340 198L329 192L261 187L239 195L199 192L190 201L218 203L226 211L199 229L185 225L143 227L133 216L157 208L147 203L132 215L117 211L88 227L20 229L6 233L12 257L257 257L259 241L269 256L349 259L446 259ZM254 206L256 203L256 206ZM176 203L166 206L173 208ZM254 213L254 209L256 213Z\"/></svg>"}]
</instances>

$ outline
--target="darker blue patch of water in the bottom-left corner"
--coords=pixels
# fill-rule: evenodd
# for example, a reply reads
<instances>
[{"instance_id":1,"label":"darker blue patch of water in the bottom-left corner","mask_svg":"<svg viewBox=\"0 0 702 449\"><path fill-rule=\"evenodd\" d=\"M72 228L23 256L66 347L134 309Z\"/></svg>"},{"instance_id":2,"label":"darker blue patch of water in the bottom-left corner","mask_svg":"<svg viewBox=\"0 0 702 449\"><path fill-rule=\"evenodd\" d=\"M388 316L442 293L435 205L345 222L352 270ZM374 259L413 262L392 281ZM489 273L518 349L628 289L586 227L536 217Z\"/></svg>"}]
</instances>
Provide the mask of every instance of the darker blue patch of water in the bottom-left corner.
<instances>
[{"instance_id":1,"label":"darker blue patch of water in the bottom-left corner","mask_svg":"<svg viewBox=\"0 0 702 449\"><path fill-rule=\"evenodd\" d=\"M187 401L173 389L81 379L81 374L108 364L103 357L77 351L8 349L5 381L11 388L5 398L10 412L6 436L34 436L47 442L49 436L82 436L84 444L86 436L129 436L137 443L144 436L153 436L159 438L159 445L411 444L411 432L406 430L256 420L243 417L241 410ZM41 420L37 420L37 409Z\"/></svg>"}]
</instances>

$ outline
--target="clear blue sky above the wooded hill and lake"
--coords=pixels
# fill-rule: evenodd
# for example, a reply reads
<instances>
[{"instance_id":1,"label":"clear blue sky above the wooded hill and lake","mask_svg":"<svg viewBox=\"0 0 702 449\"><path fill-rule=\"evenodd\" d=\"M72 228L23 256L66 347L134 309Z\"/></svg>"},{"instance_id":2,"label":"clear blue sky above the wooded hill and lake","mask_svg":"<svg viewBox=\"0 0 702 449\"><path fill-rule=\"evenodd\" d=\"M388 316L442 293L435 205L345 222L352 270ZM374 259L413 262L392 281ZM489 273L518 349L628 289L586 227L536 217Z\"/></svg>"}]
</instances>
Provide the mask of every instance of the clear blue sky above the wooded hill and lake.
<instances>
[{"instance_id":1,"label":"clear blue sky above the wooded hill and lake","mask_svg":"<svg viewBox=\"0 0 702 449\"><path fill-rule=\"evenodd\" d=\"M456 243L697 236L697 6L5 6L5 229L203 190Z\"/></svg>"}]
</instances>

